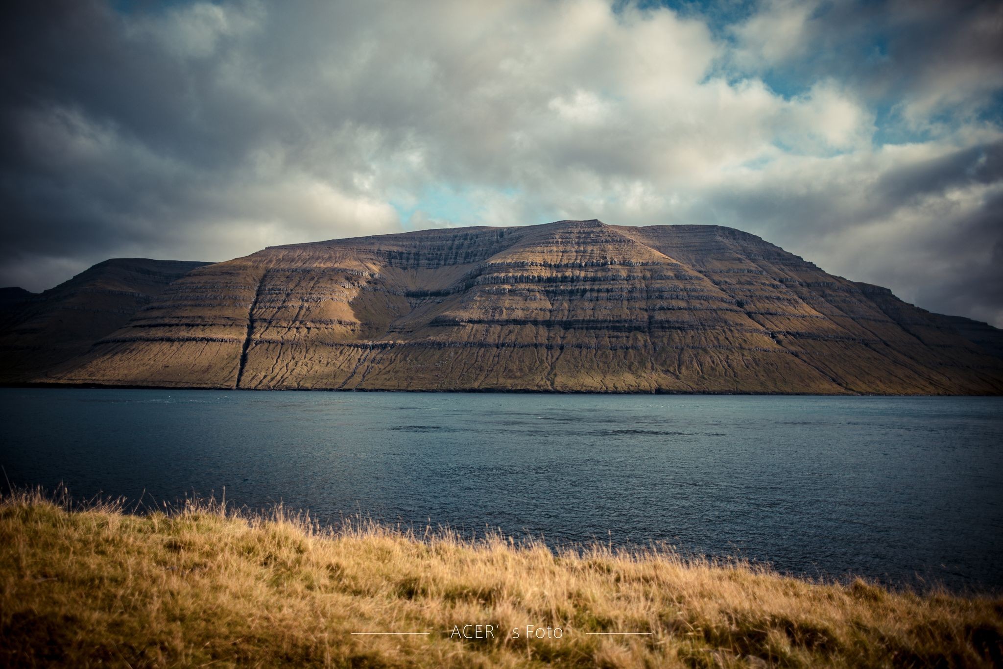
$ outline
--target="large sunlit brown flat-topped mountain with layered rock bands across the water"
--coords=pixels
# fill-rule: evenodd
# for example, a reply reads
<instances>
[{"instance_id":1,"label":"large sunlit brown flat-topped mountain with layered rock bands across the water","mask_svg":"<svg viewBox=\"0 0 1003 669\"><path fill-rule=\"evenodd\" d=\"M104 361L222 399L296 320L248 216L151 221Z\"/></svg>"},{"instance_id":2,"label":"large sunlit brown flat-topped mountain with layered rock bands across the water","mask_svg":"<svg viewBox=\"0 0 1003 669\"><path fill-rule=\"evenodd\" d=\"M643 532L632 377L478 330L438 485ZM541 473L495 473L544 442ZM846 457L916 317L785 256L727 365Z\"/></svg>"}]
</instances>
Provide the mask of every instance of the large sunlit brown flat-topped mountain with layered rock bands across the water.
<instances>
[{"instance_id":1,"label":"large sunlit brown flat-topped mountain with layered rock bands across the water","mask_svg":"<svg viewBox=\"0 0 1003 669\"><path fill-rule=\"evenodd\" d=\"M995 328L959 330L888 289L716 226L561 221L272 247L192 269L137 306L84 355L31 380L1003 392L1003 359L966 336L998 341Z\"/></svg>"}]
</instances>

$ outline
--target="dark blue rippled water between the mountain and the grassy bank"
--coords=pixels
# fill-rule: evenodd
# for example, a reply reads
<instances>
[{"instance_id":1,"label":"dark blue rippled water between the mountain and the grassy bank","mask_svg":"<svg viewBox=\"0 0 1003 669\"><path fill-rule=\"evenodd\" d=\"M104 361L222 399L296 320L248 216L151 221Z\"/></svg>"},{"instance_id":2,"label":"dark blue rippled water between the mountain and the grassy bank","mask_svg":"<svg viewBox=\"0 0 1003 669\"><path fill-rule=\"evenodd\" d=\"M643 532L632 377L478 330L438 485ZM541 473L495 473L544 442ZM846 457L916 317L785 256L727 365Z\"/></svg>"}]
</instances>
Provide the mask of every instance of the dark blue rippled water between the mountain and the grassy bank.
<instances>
[{"instance_id":1,"label":"dark blue rippled water between the mountain and the grassy bank","mask_svg":"<svg viewBox=\"0 0 1003 669\"><path fill-rule=\"evenodd\" d=\"M1003 589L1003 398L0 389L14 484Z\"/></svg>"}]
</instances>

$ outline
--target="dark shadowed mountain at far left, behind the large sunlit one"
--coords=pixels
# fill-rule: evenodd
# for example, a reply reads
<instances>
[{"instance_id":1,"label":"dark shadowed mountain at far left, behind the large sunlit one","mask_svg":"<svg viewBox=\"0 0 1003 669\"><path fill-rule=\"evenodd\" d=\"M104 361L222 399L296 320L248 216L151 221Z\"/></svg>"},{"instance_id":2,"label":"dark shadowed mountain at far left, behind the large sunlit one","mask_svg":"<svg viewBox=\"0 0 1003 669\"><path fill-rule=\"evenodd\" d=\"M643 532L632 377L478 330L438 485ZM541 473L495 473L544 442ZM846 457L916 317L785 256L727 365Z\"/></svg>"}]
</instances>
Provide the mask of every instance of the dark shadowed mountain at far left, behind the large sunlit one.
<instances>
[{"instance_id":1,"label":"dark shadowed mountain at far left, behind the large sunlit one","mask_svg":"<svg viewBox=\"0 0 1003 669\"><path fill-rule=\"evenodd\" d=\"M87 353L172 282L204 265L115 258L43 293L0 289L0 382L30 381Z\"/></svg>"}]
</instances>

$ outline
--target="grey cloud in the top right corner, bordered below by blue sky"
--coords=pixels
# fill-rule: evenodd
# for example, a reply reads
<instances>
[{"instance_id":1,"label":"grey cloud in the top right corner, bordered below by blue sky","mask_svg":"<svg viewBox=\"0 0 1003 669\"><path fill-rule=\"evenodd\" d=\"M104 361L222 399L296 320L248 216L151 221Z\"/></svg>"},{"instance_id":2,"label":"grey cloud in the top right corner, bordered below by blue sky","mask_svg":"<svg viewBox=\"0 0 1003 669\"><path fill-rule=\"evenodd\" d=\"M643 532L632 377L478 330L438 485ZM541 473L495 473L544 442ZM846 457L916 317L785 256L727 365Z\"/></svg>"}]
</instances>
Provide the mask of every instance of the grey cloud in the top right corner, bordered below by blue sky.
<instances>
[{"instance_id":1,"label":"grey cloud in the top right corner, bordered below by blue sky","mask_svg":"<svg viewBox=\"0 0 1003 669\"><path fill-rule=\"evenodd\" d=\"M1003 87L1003 5L986 0L764 0L728 28L729 65L782 84L832 77L913 129L977 114Z\"/></svg>"}]
</instances>

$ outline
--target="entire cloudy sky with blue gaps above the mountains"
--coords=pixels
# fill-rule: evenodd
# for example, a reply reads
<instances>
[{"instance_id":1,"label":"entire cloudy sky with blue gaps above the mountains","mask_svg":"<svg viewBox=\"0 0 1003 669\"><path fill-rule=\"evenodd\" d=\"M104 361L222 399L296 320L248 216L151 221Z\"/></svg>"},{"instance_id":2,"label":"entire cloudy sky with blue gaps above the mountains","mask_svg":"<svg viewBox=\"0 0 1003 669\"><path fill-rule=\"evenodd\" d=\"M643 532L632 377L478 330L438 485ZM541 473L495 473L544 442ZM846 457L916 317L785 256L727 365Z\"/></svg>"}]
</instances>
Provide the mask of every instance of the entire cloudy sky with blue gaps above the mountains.
<instances>
[{"instance_id":1,"label":"entire cloudy sky with blue gaps above the mountains","mask_svg":"<svg viewBox=\"0 0 1003 669\"><path fill-rule=\"evenodd\" d=\"M11 0L0 285L713 224L1003 327L1003 3Z\"/></svg>"}]
</instances>

